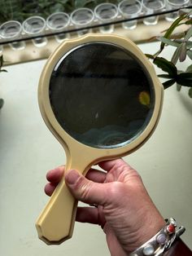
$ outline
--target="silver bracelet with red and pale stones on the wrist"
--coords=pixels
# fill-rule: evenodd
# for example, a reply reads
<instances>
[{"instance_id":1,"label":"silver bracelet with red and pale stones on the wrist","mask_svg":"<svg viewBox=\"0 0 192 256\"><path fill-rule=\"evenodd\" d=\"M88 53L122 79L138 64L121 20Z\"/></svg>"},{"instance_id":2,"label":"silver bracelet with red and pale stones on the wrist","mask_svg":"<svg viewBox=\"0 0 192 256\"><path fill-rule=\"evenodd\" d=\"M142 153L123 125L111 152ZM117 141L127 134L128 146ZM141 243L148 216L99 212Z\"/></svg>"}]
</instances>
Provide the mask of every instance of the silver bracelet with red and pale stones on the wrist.
<instances>
[{"instance_id":1,"label":"silver bracelet with red and pale stones on the wrist","mask_svg":"<svg viewBox=\"0 0 192 256\"><path fill-rule=\"evenodd\" d=\"M177 237L185 232L185 227L177 227L174 218L165 219L166 225L144 245L137 248L129 256L161 256L168 250Z\"/></svg>"}]
</instances>

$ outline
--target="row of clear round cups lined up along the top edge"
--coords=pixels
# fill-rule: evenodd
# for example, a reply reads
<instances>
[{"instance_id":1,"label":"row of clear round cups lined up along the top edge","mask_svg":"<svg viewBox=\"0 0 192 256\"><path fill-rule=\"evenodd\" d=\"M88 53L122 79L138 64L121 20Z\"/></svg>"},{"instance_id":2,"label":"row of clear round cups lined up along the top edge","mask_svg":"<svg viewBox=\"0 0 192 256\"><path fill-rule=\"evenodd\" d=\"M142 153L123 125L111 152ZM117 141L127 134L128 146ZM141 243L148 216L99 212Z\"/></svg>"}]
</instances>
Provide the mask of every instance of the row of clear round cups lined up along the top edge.
<instances>
[{"instance_id":1,"label":"row of clear round cups lined up along the top edge","mask_svg":"<svg viewBox=\"0 0 192 256\"><path fill-rule=\"evenodd\" d=\"M55 12L46 20L41 16L31 16L24 20L23 24L16 20L10 20L0 26L0 43L35 37L33 38L34 45L44 46L47 39L42 35L46 33L58 33L55 38L61 42L70 36L68 31L72 28L77 29L76 32L81 35L90 32L90 29L86 29L86 27L90 28L94 24L101 24L99 26L101 33L112 33L114 30L112 23L116 20L126 20L122 21L124 29L135 29L136 18L139 16L143 16L143 23L146 25L157 24L158 15L155 14L189 7L190 3L190 0L123 0L118 5L103 2L94 10L79 8L70 15L65 12ZM165 15L165 19L172 21L177 18L177 15L178 11L172 11ZM11 46L13 49L23 49L25 44L24 41L11 42Z\"/></svg>"}]
</instances>

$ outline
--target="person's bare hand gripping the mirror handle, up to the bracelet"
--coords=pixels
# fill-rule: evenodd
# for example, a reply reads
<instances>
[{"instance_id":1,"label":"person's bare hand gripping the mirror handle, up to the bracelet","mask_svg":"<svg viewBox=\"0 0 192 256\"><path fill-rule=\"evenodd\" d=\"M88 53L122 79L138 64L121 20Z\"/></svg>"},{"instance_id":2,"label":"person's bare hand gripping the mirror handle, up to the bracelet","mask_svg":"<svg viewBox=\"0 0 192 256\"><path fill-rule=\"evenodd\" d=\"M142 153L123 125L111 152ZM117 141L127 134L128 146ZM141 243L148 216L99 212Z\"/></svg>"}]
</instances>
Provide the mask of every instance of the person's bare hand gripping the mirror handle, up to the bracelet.
<instances>
[{"instance_id":1,"label":"person's bare hand gripping the mirror handle, up to the bracelet","mask_svg":"<svg viewBox=\"0 0 192 256\"><path fill-rule=\"evenodd\" d=\"M76 221L100 225L106 233L111 256L129 255L159 232L164 218L131 166L122 159L103 161L98 166L105 172L90 169L86 177L76 170L64 174L64 166L50 170L45 192L50 196L64 174L78 201L97 205L78 207Z\"/></svg>"}]
</instances>

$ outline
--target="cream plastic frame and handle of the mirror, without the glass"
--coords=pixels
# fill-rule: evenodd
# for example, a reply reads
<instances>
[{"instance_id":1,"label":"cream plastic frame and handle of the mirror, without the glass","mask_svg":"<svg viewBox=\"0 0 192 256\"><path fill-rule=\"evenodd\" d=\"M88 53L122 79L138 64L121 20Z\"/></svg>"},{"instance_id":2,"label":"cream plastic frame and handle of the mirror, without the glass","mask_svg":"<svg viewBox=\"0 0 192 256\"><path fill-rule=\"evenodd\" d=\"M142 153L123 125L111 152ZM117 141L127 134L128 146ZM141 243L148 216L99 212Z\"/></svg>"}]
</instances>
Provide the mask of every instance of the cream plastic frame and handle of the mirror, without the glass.
<instances>
[{"instance_id":1,"label":"cream plastic frame and handle of the mirror, without the glass","mask_svg":"<svg viewBox=\"0 0 192 256\"><path fill-rule=\"evenodd\" d=\"M142 131L141 135L139 135L129 144L120 148L91 148L76 141L76 139L73 139L70 135L68 135L68 133L59 125L59 122L56 120L50 105L50 77L55 65L58 64L61 57L68 51L72 51L72 49L76 48L76 46L81 46L88 42L112 43L130 51L146 67L146 70L148 71L154 85L155 107L151 120L146 126L146 129ZM83 38L63 42L63 44L61 44L47 60L41 73L38 87L38 102L41 115L46 122L46 126L48 126L53 135L55 135L55 138L59 140L59 143L63 145L66 153L66 172L68 170L76 169L84 175L89 170L90 166L98 163L98 161L124 157L130 152L133 152L137 148L141 147L142 144L146 142L146 139L151 136L159 121L163 103L163 95L164 88L159 82L159 78L156 76L155 68L149 62L149 60L147 60L142 51L127 38L103 34L89 34ZM55 189L53 195L50 197L50 201L46 205L45 209L41 212L39 218L37 219L36 227L39 238L46 242L47 245L59 245L63 241L71 238L76 217L76 207L77 201L68 191L68 187L66 186L63 178Z\"/></svg>"}]
</instances>

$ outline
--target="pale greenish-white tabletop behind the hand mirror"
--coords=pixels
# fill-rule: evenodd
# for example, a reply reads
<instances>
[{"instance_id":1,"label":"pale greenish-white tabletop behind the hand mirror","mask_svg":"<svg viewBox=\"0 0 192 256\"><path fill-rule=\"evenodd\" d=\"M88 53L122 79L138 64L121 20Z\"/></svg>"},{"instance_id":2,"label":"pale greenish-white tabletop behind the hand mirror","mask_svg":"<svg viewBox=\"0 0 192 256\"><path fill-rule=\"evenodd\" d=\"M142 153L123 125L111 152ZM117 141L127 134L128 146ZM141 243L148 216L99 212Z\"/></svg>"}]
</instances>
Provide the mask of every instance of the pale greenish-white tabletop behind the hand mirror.
<instances>
[{"instance_id":1,"label":"pale greenish-white tabletop behind the hand mirror","mask_svg":"<svg viewBox=\"0 0 192 256\"><path fill-rule=\"evenodd\" d=\"M159 43L139 45L155 53ZM172 49L165 52L171 55ZM0 74L0 254L4 256L109 255L98 226L76 223L72 239L59 246L38 240L35 220L48 201L46 171L65 163L65 153L42 121L37 85L46 60L7 67ZM190 60L189 63L190 64ZM187 64L186 64L187 65ZM158 71L157 71L158 72ZM124 157L142 175L164 218L186 227L192 249L192 100L175 86L165 91L164 108L154 135Z\"/></svg>"}]
</instances>

